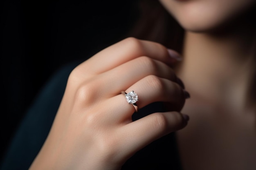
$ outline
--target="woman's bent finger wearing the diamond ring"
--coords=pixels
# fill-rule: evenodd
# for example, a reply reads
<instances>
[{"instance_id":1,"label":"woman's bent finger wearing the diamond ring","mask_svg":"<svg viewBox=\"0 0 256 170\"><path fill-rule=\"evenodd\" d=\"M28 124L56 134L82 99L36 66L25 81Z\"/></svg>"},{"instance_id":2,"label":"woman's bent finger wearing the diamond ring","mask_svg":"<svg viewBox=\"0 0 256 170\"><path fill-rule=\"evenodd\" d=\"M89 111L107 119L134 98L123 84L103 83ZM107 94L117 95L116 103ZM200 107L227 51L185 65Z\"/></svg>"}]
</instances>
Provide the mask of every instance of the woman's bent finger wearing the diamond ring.
<instances>
[{"instance_id":1,"label":"woman's bent finger wearing the diamond ring","mask_svg":"<svg viewBox=\"0 0 256 170\"><path fill-rule=\"evenodd\" d=\"M136 102L138 109L153 102L167 102L171 107L171 111L180 111L186 99L186 95L180 85L155 75L149 75L139 80L130 86L126 90L126 93L130 91L134 91L138 95L139 101ZM117 104L119 103L117 101L123 100L121 104L118 105L118 108L115 107L119 110L118 113L121 114L120 119L130 117L134 113L132 104L130 104L131 106L128 106L129 104L124 102L126 98L122 95L123 94L120 94L109 99L109 102L112 104ZM126 106L124 106L124 103ZM124 111L121 112L121 110L126 111L124 113ZM112 118L116 119L117 115Z\"/></svg>"}]
</instances>

